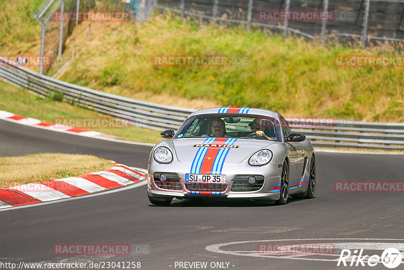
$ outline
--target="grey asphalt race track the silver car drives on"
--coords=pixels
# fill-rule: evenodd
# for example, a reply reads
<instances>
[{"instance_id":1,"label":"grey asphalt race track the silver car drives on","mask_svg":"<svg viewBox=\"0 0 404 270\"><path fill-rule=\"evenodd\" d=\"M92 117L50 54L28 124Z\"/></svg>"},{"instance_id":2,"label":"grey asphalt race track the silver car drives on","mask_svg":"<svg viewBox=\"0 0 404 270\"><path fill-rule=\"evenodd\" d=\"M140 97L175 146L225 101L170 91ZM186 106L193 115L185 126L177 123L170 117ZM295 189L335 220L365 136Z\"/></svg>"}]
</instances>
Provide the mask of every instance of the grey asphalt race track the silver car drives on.
<instances>
[{"instance_id":1,"label":"grey asphalt race track the silver car drives on","mask_svg":"<svg viewBox=\"0 0 404 270\"><path fill-rule=\"evenodd\" d=\"M0 120L1 156L84 153L145 168L149 151L147 146L83 138ZM338 267L336 262L321 259L326 256L318 256L319 260L312 257L302 260L299 256L294 259L251 257L212 252L206 247L255 241L222 247L225 251L253 251L264 240L284 243L289 239L402 239L402 193L336 193L333 183L403 181L403 164L403 155L319 152L315 198L291 200L284 206L248 201L174 200L170 207L161 207L149 204L142 186L103 196L3 211L0 212L0 265L21 261L136 261L141 262L141 269L185 269L179 268L176 262L206 261L208 267L202 269L220 268L211 267L211 262L228 262L230 269L387 269L383 264ZM355 241L404 242L345 242ZM341 241L316 243L325 242ZM126 256L54 255L53 245L61 243L127 243L132 251ZM395 269L402 269L403 265Z\"/></svg>"}]
</instances>

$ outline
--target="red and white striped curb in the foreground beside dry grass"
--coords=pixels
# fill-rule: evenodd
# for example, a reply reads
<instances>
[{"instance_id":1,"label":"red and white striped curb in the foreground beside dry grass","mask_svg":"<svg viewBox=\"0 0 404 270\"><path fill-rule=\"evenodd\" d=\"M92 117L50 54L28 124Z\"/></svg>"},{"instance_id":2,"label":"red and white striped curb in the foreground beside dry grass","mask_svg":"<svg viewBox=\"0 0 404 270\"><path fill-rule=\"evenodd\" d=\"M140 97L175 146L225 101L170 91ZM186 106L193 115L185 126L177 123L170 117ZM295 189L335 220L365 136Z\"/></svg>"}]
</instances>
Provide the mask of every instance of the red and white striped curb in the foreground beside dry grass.
<instances>
[{"instance_id":1,"label":"red and white striped curb in the foreground beside dry grass","mask_svg":"<svg viewBox=\"0 0 404 270\"><path fill-rule=\"evenodd\" d=\"M144 181L147 173L120 163L109 170L0 189L0 209L48 202L127 186Z\"/></svg>"}]
</instances>

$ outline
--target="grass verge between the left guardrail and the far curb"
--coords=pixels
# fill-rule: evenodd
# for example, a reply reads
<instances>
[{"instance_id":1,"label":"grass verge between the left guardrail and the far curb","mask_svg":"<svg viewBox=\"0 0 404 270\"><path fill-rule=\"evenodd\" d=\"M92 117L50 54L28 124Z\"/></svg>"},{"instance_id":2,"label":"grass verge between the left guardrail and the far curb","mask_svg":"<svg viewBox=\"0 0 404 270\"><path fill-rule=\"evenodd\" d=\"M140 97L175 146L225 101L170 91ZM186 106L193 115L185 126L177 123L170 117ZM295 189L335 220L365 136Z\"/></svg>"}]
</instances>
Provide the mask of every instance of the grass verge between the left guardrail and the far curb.
<instances>
[{"instance_id":1,"label":"grass verge between the left guardrail and the far curb","mask_svg":"<svg viewBox=\"0 0 404 270\"><path fill-rule=\"evenodd\" d=\"M58 101L58 97L40 99L30 94L27 90L15 87L2 80L0 80L0 110L53 123L55 122L55 118L62 117L107 117L91 110ZM112 117L109 117L109 119L112 119ZM110 134L117 139L134 142L155 144L163 140L160 137L159 130L136 126L130 126L129 128L84 129L99 131Z\"/></svg>"}]
</instances>

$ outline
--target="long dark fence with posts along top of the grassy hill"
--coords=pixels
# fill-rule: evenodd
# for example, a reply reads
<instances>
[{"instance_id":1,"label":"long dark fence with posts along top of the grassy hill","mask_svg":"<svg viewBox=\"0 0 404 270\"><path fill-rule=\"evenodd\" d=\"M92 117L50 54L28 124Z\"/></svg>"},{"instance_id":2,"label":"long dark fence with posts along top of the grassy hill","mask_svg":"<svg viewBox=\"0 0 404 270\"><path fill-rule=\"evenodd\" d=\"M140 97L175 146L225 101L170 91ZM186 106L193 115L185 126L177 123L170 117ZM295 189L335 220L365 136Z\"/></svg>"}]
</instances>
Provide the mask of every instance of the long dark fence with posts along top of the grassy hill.
<instances>
[{"instance_id":1,"label":"long dark fence with posts along top of the grassy hill","mask_svg":"<svg viewBox=\"0 0 404 270\"><path fill-rule=\"evenodd\" d=\"M309 38L403 41L403 0L160 0L157 8L221 24Z\"/></svg>"}]
</instances>

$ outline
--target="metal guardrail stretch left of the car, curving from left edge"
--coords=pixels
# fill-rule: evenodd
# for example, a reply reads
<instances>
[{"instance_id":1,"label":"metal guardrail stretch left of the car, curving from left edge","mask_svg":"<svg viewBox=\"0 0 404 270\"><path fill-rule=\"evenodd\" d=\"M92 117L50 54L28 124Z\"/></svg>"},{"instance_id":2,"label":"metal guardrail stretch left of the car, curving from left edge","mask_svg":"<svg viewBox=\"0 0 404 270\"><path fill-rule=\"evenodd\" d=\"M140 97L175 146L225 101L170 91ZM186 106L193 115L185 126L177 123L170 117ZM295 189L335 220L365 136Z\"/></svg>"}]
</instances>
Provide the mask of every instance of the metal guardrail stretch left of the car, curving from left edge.
<instances>
[{"instance_id":1,"label":"metal guardrail stretch left of the car, curving from left edge","mask_svg":"<svg viewBox=\"0 0 404 270\"><path fill-rule=\"evenodd\" d=\"M124 119L132 125L152 129L177 129L195 110L164 106L120 97L57 80L0 57L0 78L28 89L41 98L63 93L63 100L77 106Z\"/></svg>"}]
</instances>

